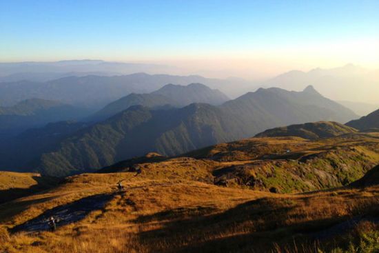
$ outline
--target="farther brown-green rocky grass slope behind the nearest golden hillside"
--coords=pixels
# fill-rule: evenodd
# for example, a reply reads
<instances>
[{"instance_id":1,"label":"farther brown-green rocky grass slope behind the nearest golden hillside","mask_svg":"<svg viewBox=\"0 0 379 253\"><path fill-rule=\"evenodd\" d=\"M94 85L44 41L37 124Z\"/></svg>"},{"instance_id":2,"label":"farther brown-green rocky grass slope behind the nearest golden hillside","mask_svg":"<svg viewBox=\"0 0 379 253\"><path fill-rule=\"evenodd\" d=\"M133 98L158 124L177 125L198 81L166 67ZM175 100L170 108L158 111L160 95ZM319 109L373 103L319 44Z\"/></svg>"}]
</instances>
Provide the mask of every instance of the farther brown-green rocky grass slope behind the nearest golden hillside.
<instances>
[{"instance_id":1,"label":"farther brown-green rocky grass slope behind the nearest golden hillside","mask_svg":"<svg viewBox=\"0 0 379 253\"><path fill-rule=\"evenodd\" d=\"M141 168L150 179L179 177L289 193L347 185L360 179L378 162L378 134L354 133L314 141L299 137L244 139L174 158L127 160L101 172Z\"/></svg>"}]
</instances>

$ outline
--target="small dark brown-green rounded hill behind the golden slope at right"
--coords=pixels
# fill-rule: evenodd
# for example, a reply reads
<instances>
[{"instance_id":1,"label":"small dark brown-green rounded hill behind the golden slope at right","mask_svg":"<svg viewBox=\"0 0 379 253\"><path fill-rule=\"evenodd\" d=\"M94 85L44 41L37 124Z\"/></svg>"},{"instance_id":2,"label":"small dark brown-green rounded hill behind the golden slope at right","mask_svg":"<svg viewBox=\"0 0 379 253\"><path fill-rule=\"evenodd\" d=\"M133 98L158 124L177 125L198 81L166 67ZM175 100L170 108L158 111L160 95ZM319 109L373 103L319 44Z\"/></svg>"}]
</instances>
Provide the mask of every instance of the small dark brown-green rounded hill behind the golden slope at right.
<instances>
[{"instance_id":1,"label":"small dark brown-green rounded hill behind the golden slope at right","mask_svg":"<svg viewBox=\"0 0 379 253\"><path fill-rule=\"evenodd\" d=\"M357 130L340 123L320 121L273 128L256 134L256 137L298 136L304 139L320 139L354 132Z\"/></svg>"}]
</instances>

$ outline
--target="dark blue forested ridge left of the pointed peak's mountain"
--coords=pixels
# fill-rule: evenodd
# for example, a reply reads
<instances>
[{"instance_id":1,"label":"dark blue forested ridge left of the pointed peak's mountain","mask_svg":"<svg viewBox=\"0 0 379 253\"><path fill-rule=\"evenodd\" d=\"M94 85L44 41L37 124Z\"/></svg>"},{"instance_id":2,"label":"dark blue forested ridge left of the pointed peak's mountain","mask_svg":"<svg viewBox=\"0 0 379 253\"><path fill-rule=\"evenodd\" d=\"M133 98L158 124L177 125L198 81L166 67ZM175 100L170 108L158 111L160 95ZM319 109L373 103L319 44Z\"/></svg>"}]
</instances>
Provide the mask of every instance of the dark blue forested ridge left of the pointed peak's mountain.
<instances>
[{"instance_id":1,"label":"dark blue forested ridge left of the pointed peak's mountain","mask_svg":"<svg viewBox=\"0 0 379 253\"><path fill-rule=\"evenodd\" d=\"M91 171L148 152L174 155L238 138L238 125L219 108L192 104L174 110L134 106L61 141L32 164L45 174ZM34 167L35 166L35 167Z\"/></svg>"}]
</instances>

